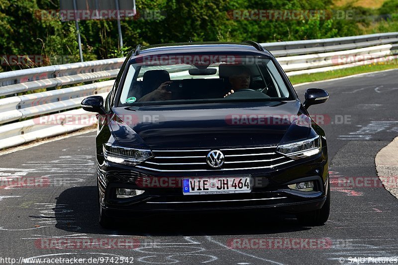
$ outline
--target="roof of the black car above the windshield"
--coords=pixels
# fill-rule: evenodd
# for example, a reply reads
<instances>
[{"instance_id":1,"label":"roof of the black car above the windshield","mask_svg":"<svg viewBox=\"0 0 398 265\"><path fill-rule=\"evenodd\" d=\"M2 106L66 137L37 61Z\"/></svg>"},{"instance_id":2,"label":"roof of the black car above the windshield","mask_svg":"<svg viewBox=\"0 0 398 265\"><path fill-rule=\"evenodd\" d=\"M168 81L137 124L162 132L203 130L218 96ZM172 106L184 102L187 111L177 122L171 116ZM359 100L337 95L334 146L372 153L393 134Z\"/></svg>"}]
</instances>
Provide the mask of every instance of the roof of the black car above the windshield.
<instances>
[{"instance_id":1,"label":"roof of the black car above the windshield","mask_svg":"<svg viewBox=\"0 0 398 265\"><path fill-rule=\"evenodd\" d=\"M231 53L247 55L272 56L267 50L259 51L250 43L232 42L182 42L170 44L149 45L140 49L139 55L173 54L173 53Z\"/></svg>"}]
</instances>

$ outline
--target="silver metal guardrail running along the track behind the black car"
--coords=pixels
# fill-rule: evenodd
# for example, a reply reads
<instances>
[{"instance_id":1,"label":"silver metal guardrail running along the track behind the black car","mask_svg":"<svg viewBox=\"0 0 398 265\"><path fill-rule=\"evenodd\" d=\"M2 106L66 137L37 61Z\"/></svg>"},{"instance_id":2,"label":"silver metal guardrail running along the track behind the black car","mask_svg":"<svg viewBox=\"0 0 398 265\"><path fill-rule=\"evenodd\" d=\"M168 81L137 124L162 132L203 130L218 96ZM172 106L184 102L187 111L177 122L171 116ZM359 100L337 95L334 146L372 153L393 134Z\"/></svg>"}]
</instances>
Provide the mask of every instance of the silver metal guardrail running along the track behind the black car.
<instances>
[{"instance_id":1,"label":"silver metal guardrail running along the track behind the black car","mask_svg":"<svg viewBox=\"0 0 398 265\"><path fill-rule=\"evenodd\" d=\"M370 55L372 59L397 55L398 32L261 45L277 57L288 75L297 75L351 67L358 62L370 64ZM336 63L339 56L351 56L354 61ZM56 88L114 78L123 61L117 58L0 73L0 96L8 96L0 99L0 149L95 124L95 115L80 109L80 102L93 94L105 97L113 80ZM17 95L42 88L52 90Z\"/></svg>"}]
</instances>

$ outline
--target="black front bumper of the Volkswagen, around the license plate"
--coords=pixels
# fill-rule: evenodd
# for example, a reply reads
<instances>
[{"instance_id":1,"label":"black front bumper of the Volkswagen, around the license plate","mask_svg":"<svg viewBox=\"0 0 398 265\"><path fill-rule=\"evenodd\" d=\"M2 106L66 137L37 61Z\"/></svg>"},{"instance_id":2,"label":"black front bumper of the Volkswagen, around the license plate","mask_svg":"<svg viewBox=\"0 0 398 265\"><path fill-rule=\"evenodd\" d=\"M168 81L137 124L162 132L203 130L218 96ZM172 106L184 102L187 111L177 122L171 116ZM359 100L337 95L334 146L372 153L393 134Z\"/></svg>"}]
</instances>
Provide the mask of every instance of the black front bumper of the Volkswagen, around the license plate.
<instances>
[{"instance_id":1,"label":"black front bumper of the Volkswagen, around the license plate","mask_svg":"<svg viewBox=\"0 0 398 265\"><path fill-rule=\"evenodd\" d=\"M100 204L105 212L112 216L136 212L170 212L170 211L220 211L244 209L269 209L287 213L299 213L320 209L326 200L328 191L327 156L321 152L316 157L299 160L288 167L269 171L251 172L220 172L213 171L213 177L233 177L250 175L252 192L243 194L190 195L184 196L181 182L184 177L200 177L187 175L159 175L104 162L98 167L98 184ZM207 174L206 177L209 175ZM205 176L202 176L205 177ZM162 185L162 179L166 181ZM157 180L157 187L145 187L143 180ZM314 192L291 190L287 185L313 180L316 184ZM128 199L117 199L115 189L144 190L142 195Z\"/></svg>"}]
</instances>

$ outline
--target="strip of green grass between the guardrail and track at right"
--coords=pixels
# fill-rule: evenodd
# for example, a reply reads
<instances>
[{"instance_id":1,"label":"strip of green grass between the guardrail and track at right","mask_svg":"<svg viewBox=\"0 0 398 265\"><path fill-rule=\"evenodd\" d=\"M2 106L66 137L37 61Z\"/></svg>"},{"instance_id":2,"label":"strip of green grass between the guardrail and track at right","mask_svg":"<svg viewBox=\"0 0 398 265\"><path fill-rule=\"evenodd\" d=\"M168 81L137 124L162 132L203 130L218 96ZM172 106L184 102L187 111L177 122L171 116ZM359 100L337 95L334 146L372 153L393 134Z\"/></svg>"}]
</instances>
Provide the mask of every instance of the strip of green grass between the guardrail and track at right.
<instances>
[{"instance_id":1,"label":"strip of green grass between the guardrail and track at right","mask_svg":"<svg viewBox=\"0 0 398 265\"><path fill-rule=\"evenodd\" d=\"M343 76L349 76L357 73L364 73L364 72L374 72L374 71L381 71L387 69L398 68L397 61L392 61L391 63L385 64L372 64L372 65L365 65L365 66L354 66L339 70L327 71L327 72L318 72L318 73L309 73L309 74L299 74L289 77L292 84L300 84L306 82L314 82L314 81L321 81L327 80L332 78L338 78Z\"/></svg>"}]
</instances>

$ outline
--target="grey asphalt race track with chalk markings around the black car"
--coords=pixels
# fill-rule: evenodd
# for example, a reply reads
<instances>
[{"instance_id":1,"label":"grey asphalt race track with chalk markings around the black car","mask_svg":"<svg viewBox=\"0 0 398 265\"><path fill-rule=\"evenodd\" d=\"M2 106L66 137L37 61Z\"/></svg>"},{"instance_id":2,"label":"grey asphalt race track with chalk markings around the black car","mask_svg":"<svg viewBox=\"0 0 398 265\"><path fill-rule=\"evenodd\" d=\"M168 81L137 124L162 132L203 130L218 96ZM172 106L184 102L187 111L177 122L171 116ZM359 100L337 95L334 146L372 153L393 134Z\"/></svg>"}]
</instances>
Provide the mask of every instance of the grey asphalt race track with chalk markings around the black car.
<instances>
[{"instance_id":1,"label":"grey asphalt race track with chalk markings around the black car","mask_svg":"<svg viewBox=\"0 0 398 265\"><path fill-rule=\"evenodd\" d=\"M95 133L87 133L0 156L3 180L24 177L32 182L24 187L7 187L3 182L0 188L0 264L11 264L1 259L18 262L22 257L85 258L86 262L100 258L99 264L106 259L106 264L112 264L111 257L113 264L117 257L131 257L128 263L134 264L242 265L340 264L339 258L352 264L350 257L398 259L398 200L383 187L336 185L340 177L377 176L377 152L398 135L397 74L393 70L296 87L301 99L309 87L330 93L327 103L309 109L311 115L328 117L322 127L334 185L331 215L323 226L302 227L292 216L267 213L186 214L104 230L97 218ZM91 245L82 247L82 238ZM283 245L229 248L233 238L282 239ZM96 245L102 239L113 240L107 243L117 239L118 245ZM69 240L68 245L62 245L62 240ZM288 243L297 240L299 247L290 248ZM315 243L308 245L308 240ZM56 243L68 248L59 249Z\"/></svg>"}]
</instances>

